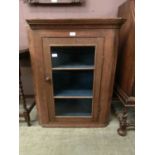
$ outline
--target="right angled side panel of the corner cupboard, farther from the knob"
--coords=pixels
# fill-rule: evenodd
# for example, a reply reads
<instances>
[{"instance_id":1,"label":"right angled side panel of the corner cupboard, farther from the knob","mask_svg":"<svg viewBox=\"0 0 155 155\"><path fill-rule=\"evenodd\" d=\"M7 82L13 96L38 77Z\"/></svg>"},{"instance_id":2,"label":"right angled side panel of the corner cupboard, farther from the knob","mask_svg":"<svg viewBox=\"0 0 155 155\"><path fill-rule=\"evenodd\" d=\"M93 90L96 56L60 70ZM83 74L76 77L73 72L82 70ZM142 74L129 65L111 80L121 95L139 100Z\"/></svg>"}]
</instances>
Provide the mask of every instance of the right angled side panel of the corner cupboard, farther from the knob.
<instances>
[{"instance_id":1,"label":"right angled side panel of the corner cupboard, farther from the knob","mask_svg":"<svg viewBox=\"0 0 155 155\"><path fill-rule=\"evenodd\" d=\"M104 63L100 90L100 123L108 123L112 101L114 77L117 62L119 30L107 30L104 46Z\"/></svg>"}]
</instances>

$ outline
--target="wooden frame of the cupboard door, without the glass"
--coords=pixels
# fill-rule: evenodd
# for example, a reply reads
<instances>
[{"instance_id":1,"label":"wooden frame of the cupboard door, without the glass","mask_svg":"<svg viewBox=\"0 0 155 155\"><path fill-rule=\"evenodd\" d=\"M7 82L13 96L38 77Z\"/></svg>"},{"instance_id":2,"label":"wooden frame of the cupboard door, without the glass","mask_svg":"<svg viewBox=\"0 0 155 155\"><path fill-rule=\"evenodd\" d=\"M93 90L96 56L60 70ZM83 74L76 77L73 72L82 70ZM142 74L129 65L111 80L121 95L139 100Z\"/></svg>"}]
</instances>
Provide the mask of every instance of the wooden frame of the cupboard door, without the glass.
<instances>
[{"instance_id":1,"label":"wooden frame of the cupboard door, without the glass","mask_svg":"<svg viewBox=\"0 0 155 155\"><path fill-rule=\"evenodd\" d=\"M50 82L45 82L45 90L46 90L46 100L48 104L48 115L49 122L74 122L75 123L88 123L88 122L97 122L99 117L99 96L100 96L100 82L102 75L102 66L103 66L103 57L104 57L104 37L92 37L92 38L58 38L58 37L44 37L43 41L43 62L44 62L44 76L51 77L52 75L52 63L50 56L50 47L51 46L95 46L95 69L93 71L94 79L93 79L93 111L92 111L92 119L90 117L55 117L55 106L54 106L54 95L53 95L53 82L52 78ZM98 51L98 52L97 52ZM101 53L102 52L102 53ZM102 58L101 58L102 57ZM52 94L52 95L51 95ZM52 103L52 104L50 104ZM74 121L73 121L74 120Z\"/></svg>"}]
</instances>

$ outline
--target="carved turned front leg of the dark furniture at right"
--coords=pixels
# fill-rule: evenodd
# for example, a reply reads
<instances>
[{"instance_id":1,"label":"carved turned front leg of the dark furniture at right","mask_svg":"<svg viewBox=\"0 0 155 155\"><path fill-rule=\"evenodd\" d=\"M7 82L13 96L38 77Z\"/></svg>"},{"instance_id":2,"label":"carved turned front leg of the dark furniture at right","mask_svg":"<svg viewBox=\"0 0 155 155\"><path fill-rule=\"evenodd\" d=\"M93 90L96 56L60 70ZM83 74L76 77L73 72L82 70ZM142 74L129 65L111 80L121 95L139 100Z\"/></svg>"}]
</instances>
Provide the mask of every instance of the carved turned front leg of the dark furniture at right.
<instances>
[{"instance_id":1,"label":"carved turned front leg of the dark furniture at right","mask_svg":"<svg viewBox=\"0 0 155 155\"><path fill-rule=\"evenodd\" d=\"M127 128L127 108L124 107L123 115L119 118L120 127L118 128L117 132L120 136L126 136L126 128Z\"/></svg>"}]
</instances>

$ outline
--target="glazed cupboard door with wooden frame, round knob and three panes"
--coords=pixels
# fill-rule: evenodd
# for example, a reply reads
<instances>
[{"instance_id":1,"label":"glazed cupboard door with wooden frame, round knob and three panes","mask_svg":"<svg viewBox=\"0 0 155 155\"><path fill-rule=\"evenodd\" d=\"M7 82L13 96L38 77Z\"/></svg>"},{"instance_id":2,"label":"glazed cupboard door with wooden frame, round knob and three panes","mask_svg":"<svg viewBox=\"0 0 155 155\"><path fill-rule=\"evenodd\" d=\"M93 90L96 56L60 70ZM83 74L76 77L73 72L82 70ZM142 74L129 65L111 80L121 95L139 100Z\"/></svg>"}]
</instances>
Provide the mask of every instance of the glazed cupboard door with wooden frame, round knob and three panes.
<instances>
[{"instance_id":1,"label":"glazed cupboard door with wooden frame, round knob and three panes","mask_svg":"<svg viewBox=\"0 0 155 155\"><path fill-rule=\"evenodd\" d=\"M43 38L49 120L97 122L103 38Z\"/></svg>"}]
</instances>

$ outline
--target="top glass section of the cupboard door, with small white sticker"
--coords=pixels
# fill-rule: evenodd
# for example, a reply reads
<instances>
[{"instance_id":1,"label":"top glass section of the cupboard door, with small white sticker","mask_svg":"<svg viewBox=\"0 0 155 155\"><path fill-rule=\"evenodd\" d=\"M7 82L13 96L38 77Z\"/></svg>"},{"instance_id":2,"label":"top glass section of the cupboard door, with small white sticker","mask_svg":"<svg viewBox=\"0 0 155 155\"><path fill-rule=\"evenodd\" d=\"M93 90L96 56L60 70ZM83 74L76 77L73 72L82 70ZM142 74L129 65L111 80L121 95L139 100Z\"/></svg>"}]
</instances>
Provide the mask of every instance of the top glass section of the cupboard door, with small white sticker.
<instances>
[{"instance_id":1,"label":"top glass section of the cupboard door, with small white sticker","mask_svg":"<svg viewBox=\"0 0 155 155\"><path fill-rule=\"evenodd\" d=\"M52 67L91 67L94 66L94 46L51 47Z\"/></svg>"}]
</instances>

